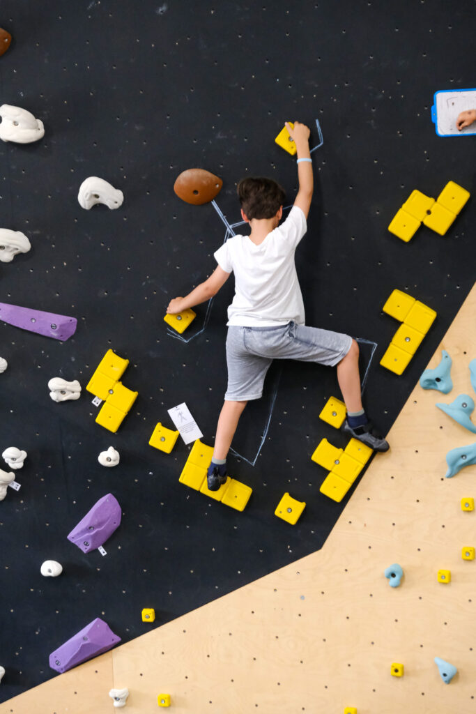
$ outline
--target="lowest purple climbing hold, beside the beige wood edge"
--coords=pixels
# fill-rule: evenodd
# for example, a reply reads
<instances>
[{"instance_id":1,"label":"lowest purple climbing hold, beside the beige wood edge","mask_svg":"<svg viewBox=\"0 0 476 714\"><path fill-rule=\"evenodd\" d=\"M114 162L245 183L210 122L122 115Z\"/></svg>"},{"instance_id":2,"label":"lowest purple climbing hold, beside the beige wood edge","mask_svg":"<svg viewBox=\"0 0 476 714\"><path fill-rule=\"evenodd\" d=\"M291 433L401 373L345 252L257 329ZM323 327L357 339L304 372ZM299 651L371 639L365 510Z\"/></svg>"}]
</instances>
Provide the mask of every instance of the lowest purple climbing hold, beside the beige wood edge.
<instances>
[{"instance_id":1,"label":"lowest purple climbing hold, beside the beige wood edge","mask_svg":"<svg viewBox=\"0 0 476 714\"><path fill-rule=\"evenodd\" d=\"M66 670L80 665L81 662L102 655L118 642L121 642L121 638L113 633L104 620L96 618L61 647L54 650L49 655L49 665L56 672L66 672Z\"/></svg>"}]
</instances>

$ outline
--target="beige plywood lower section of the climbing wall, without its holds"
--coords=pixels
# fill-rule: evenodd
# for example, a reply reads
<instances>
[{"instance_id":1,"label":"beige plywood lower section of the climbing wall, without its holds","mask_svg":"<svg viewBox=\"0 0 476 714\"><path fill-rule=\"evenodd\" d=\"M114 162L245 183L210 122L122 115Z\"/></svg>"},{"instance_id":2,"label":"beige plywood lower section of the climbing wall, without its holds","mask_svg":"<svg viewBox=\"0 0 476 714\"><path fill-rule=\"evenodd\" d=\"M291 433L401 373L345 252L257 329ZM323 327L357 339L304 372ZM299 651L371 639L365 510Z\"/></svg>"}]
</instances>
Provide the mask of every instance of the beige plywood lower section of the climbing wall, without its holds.
<instances>
[{"instance_id":1,"label":"beige plywood lower section of the climbing wall, without its holds","mask_svg":"<svg viewBox=\"0 0 476 714\"><path fill-rule=\"evenodd\" d=\"M460 508L476 498L476 466L443 478L447 451L476 436L435 407L472 394L476 286L430 366L441 348L452 356L453 391L415 387L391 451L375 456L322 550L9 700L0 714L111 713L113 686L131 691L128 714L158 710L161 692L176 714L476 713L476 560L461 558L463 545L476 545L476 511ZM383 577L395 562L400 588ZM437 583L440 568L451 570L449 585ZM435 655L458 668L449 685ZM405 665L402 678L390 675L393 662Z\"/></svg>"}]
</instances>

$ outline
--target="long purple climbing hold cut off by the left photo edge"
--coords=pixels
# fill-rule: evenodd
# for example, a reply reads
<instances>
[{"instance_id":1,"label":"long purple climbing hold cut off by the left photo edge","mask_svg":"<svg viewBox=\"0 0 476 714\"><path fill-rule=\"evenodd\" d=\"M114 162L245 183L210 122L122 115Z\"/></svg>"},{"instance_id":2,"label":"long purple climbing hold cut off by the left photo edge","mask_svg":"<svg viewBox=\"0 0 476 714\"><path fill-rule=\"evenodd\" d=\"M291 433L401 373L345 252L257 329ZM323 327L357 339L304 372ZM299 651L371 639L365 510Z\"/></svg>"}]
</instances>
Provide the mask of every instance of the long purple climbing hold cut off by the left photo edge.
<instances>
[{"instance_id":1,"label":"long purple climbing hold cut off by the left photo edge","mask_svg":"<svg viewBox=\"0 0 476 714\"><path fill-rule=\"evenodd\" d=\"M74 335L78 323L75 317L21 308L19 305L10 305L9 303L0 303L0 320L19 327L21 330L53 337L61 342Z\"/></svg>"}]
</instances>

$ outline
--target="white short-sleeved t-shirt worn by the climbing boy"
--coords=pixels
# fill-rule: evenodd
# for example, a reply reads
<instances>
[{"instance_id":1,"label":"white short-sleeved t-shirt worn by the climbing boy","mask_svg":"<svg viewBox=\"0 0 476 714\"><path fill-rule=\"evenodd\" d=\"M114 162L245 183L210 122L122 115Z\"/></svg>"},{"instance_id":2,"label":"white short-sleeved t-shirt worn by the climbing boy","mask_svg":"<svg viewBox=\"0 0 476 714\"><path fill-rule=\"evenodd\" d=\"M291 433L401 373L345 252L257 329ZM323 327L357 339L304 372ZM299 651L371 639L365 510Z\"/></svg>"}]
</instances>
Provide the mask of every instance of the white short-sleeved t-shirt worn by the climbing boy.
<instances>
[{"instance_id":1,"label":"white short-sleeved t-shirt worn by the climbing boy","mask_svg":"<svg viewBox=\"0 0 476 714\"><path fill-rule=\"evenodd\" d=\"M304 304L294 253L306 231L298 206L255 246L249 236L233 236L214 253L226 273L235 273L235 297L228 307L228 325L270 327L291 320L303 325Z\"/></svg>"}]
</instances>

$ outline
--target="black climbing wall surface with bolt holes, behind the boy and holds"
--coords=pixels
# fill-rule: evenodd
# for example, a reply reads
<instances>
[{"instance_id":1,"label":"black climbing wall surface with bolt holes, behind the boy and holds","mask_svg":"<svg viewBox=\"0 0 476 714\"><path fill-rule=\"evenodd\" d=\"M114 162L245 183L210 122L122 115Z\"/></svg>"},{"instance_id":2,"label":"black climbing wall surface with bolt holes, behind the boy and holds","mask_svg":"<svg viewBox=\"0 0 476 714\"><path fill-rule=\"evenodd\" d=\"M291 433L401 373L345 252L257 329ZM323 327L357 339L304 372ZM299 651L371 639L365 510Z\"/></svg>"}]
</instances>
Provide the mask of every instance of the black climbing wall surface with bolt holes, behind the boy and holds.
<instances>
[{"instance_id":1,"label":"black climbing wall surface with bolt holes, behind the boy and holds","mask_svg":"<svg viewBox=\"0 0 476 714\"><path fill-rule=\"evenodd\" d=\"M324 436L346 441L318 419L339 396L331 369L275 368L243 416L241 457L229 461L253 487L243 513L178 483L181 440L170 456L148 446L182 401L213 443L226 388L233 281L188 343L162 320L171 297L211 272L225 236L213 206L175 196L176 176L193 166L221 176L217 203L231 222L247 173L278 178L292 202L295 161L273 140L299 119L316 144L318 119L324 144L313 153L315 197L296 254L307 321L378 343L365 401L388 431L475 280L474 198L445 237L421 228L403 243L386 228L413 188L437 196L451 179L475 189L476 139L438 138L430 107L435 91L476 80L470 0L2 0L0 11L14 36L0 58L0 103L29 109L46 128L36 144L0 146L1 227L32 245L0 263L0 300L79 321L66 343L0 324L9 361L0 453L29 455L21 491L0 503L4 700L54 675L49 653L93 618L123 640L141 635L150 627L141 608L156 608L161 625L300 558L323 545L345 506L320 495L325 472L310 461ZM121 188L121 208L79 207L91 175ZM393 288L438 313L402 377L378 366L397 327L381 313ZM46 386L64 376L84 390L108 348L130 359L123 383L139 392L116 435L94 423L86 391L56 404ZM363 370L369 354L364 346ZM111 444L121 464L109 470L97 456ZM83 555L66 534L109 491L121 526L106 556ZM294 527L273 516L285 491L307 503ZM63 564L60 578L41 577L46 559Z\"/></svg>"}]
</instances>

